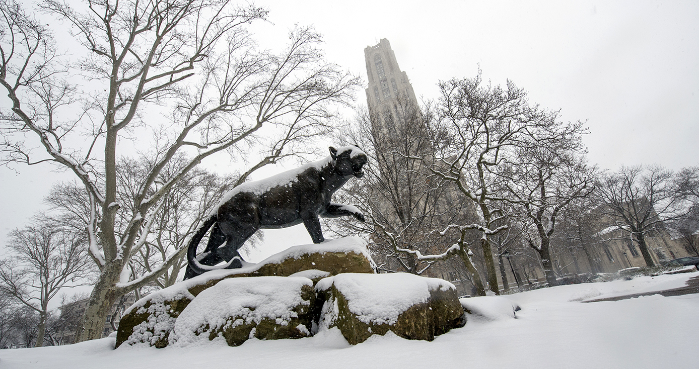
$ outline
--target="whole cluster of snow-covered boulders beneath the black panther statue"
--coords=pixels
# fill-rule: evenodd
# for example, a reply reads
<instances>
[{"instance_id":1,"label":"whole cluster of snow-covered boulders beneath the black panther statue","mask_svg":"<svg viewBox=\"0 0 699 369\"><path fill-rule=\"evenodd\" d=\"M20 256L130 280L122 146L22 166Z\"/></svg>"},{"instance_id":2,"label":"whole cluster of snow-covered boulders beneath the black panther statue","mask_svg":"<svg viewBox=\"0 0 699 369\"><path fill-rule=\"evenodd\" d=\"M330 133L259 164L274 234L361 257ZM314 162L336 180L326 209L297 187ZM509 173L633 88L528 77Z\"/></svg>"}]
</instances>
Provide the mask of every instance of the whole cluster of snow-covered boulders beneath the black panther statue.
<instances>
[{"instance_id":1,"label":"whole cluster of snow-covered boulders beneath the black panther statue","mask_svg":"<svg viewBox=\"0 0 699 369\"><path fill-rule=\"evenodd\" d=\"M466 323L456 287L408 273L375 274L357 238L295 246L260 264L216 270L131 306L117 347L199 345L213 340L303 338L338 327L352 345L388 331L411 340Z\"/></svg>"}]
</instances>

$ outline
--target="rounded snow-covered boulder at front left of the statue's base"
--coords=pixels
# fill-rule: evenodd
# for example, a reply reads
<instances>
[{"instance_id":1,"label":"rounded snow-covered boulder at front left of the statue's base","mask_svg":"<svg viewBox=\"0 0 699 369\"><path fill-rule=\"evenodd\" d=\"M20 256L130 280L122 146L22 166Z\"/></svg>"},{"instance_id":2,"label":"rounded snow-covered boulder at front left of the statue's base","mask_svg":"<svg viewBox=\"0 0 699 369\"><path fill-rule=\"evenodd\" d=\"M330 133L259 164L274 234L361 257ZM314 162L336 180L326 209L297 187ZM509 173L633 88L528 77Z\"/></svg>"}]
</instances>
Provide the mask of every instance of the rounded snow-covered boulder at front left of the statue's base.
<instances>
[{"instance_id":1,"label":"rounded snow-covered boulder at front left of the statue's base","mask_svg":"<svg viewBox=\"0 0 699 369\"><path fill-rule=\"evenodd\" d=\"M304 277L222 280L201 292L175 321L171 345L224 340L242 345L248 338L278 340L310 336L315 291Z\"/></svg>"}]
</instances>

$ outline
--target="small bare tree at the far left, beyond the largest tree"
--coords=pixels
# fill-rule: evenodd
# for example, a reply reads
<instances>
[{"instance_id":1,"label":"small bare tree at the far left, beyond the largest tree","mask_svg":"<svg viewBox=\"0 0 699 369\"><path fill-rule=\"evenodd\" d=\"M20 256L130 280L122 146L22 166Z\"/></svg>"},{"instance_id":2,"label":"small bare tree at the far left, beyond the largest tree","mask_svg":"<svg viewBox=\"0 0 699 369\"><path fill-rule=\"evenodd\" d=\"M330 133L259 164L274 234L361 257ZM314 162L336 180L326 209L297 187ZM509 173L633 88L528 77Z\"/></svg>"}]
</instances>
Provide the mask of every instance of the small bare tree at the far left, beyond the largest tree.
<instances>
[{"instance_id":1,"label":"small bare tree at the far left, beyond the largest tree","mask_svg":"<svg viewBox=\"0 0 699 369\"><path fill-rule=\"evenodd\" d=\"M48 303L60 289L90 283L85 239L55 227L10 232L13 257L0 261L0 292L38 312L36 347L43 345Z\"/></svg>"}]
</instances>

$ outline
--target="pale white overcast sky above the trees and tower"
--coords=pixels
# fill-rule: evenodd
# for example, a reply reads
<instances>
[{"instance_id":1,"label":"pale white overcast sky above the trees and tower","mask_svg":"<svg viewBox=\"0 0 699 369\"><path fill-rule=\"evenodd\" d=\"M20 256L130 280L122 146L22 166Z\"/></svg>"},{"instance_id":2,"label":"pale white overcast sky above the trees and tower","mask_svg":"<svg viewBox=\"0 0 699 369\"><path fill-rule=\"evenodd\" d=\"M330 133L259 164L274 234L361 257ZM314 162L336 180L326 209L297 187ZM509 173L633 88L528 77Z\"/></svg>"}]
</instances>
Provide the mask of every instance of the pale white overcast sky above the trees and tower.
<instances>
[{"instance_id":1,"label":"pale white overcast sky above the trees and tower","mask_svg":"<svg viewBox=\"0 0 699 369\"><path fill-rule=\"evenodd\" d=\"M563 120L587 121L588 157L603 169L698 164L699 1L255 3L270 10L271 23L254 27L264 47L294 24L313 24L328 59L366 80L364 47L388 38L419 98L436 98L439 80L473 77L480 66L484 80L510 79ZM363 90L356 97L366 105ZM69 178L46 168L0 168L0 243L41 209L51 183ZM301 230L294 240L310 241Z\"/></svg>"}]
</instances>

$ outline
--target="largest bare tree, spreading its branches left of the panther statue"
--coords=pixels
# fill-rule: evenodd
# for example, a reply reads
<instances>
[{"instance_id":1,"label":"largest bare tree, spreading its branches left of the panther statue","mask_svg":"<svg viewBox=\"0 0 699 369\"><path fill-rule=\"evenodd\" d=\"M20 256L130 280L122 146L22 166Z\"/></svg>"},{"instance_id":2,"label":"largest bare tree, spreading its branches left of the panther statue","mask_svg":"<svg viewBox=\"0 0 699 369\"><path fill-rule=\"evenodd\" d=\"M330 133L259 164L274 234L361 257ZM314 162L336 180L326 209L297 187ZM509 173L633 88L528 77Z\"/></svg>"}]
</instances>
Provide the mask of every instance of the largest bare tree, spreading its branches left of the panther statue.
<instances>
[{"instance_id":1,"label":"largest bare tree, spreading its branches left of the panther statue","mask_svg":"<svg viewBox=\"0 0 699 369\"><path fill-rule=\"evenodd\" d=\"M89 253L100 273L76 338L82 341L99 338L120 296L181 259L185 248L138 278L125 272L175 183L214 153L262 153L241 176L245 181L329 130L331 105L349 101L358 80L324 61L319 35L308 28L292 30L279 54L259 51L247 25L264 20L266 10L254 6L227 0L99 0L79 8L45 0L39 6L74 27L84 54L64 66L42 22L15 1L1 4L0 84L12 105L0 116L3 163L49 161L85 187ZM86 91L69 83L72 73L89 81L80 86ZM144 128L154 135L152 165L136 183L133 202L122 204L117 165L129 153L124 143ZM260 140L261 134L273 139ZM43 156L24 137L38 139ZM178 155L187 160L159 182Z\"/></svg>"}]
</instances>

